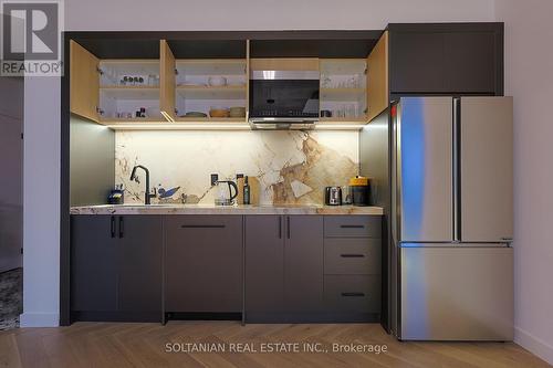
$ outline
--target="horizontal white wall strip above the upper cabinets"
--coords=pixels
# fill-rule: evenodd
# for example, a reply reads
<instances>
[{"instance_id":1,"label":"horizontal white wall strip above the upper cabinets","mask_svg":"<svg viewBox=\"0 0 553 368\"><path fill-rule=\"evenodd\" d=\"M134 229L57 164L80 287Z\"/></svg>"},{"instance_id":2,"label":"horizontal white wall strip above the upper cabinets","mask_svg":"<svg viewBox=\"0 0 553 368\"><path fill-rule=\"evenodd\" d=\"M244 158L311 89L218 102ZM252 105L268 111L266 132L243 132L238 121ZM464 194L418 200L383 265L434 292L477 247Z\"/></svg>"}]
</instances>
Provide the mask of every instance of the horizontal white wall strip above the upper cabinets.
<instances>
[{"instance_id":1,"label":"horizontal white wall strip above the upper cabinets","mask_svg":"<svg viewBox=\"0 0 553 368\"><path fill-rule=\"evenodd\" d=\"M66 28L87 31L378 30L493 20L493 0L65 0L65 8Z\"/></svg>"}]
</instances>

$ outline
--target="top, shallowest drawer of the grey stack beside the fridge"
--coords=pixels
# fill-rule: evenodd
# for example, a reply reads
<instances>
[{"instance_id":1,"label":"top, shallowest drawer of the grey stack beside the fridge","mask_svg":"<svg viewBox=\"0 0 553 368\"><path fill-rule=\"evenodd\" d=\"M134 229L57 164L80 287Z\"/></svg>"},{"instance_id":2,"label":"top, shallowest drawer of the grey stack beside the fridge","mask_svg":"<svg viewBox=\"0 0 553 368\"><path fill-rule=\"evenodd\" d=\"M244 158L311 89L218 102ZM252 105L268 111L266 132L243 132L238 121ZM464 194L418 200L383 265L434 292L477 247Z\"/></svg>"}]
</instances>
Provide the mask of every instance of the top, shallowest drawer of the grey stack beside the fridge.
<instances>
[{"instance_id":1,"label":"top, shallowest drawer of the grey stack beside the fridge","mask_svg":"<svg viewBox=\"0 0 553 368\"><path fill-rule=\"evenodd\" d=\"M326 215L324 236L326 238L380 238L379 215Z\"/></svg>"}]
</instances>

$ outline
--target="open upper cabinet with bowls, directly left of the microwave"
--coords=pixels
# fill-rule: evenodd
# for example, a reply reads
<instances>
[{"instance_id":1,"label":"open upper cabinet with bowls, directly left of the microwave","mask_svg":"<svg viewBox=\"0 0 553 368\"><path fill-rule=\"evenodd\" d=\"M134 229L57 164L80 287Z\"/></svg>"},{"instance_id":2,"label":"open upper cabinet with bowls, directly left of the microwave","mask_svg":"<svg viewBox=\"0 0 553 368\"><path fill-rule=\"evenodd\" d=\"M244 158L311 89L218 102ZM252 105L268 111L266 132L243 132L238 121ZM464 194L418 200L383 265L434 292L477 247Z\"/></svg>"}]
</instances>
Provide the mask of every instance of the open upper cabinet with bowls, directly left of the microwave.
<instances>
[{"instance_id":1,"label":"open upper cabinet with bowls, directly left of the microwave","mask_svg":"<svg viewBox=\"0 0 553 368\"><path fill-rule=\"evenodd\" d=\"M248 42L161 41L163 114L177 123L246 123Z\"/></svg>"}]
</instances>

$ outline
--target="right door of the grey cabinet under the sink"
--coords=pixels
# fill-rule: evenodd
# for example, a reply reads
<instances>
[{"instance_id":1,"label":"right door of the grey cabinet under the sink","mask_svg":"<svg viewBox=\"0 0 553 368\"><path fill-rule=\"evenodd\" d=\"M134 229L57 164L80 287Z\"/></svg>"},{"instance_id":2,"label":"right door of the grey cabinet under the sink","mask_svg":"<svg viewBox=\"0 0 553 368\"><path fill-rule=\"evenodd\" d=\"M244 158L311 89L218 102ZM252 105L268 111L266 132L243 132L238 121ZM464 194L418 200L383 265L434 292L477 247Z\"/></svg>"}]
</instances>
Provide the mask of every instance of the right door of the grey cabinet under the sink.
<instances>
[{"instance_id":1,"label":"right door of the grey cabinet under the sink","mask_svg":"<svg viewBox=\"0 0 553 368\"><path fill-rule=\"evenodd\" d=\"M161 217L124 215L117 222L118 309L161 313Z\"/></svg>"}]
</instances>

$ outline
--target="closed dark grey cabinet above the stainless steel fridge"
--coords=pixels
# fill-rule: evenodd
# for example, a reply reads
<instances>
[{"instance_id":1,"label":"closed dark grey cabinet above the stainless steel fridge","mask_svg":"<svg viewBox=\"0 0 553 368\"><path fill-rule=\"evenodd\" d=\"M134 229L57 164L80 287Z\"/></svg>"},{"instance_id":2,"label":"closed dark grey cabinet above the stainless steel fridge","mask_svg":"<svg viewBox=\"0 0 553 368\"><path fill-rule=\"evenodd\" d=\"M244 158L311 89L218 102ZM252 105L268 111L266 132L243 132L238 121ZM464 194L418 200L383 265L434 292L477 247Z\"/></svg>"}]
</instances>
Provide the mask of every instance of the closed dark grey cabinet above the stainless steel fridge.
<instances>
[{"instance_id":1,"label":"closed dark grey cabinet above the stainless steel fridge","mask_svg":"<svg viewBox=\"0 0 553 368\"><path fill-rule=\"evenodd\" d=\"M503 94L503 23L388 30L392 94Z\"/></svg>"}]
</instances>

